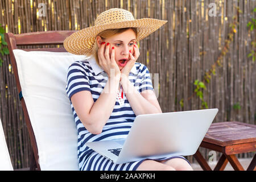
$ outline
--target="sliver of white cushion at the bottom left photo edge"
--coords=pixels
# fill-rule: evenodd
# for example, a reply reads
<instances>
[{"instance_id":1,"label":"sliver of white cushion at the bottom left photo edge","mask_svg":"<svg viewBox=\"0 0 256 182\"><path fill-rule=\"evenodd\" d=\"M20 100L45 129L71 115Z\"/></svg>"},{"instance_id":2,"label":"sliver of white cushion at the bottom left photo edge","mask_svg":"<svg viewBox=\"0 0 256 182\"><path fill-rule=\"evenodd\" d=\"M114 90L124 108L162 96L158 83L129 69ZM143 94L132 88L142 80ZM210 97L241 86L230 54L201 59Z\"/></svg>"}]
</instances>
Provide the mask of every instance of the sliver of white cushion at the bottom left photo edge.
<instances>
[{"instance_id":1,"label":"sliver of white cushion at the bottom left photo edge","mask_svg":"<svg viewBox=\"0 0 256 182\"><path fill-rule=\"evenodd\" d=\"M5 134L3 133L3 126L0 119L0 171L13 171L10 154L7 148Z\"/></svg>"}]
</instances>

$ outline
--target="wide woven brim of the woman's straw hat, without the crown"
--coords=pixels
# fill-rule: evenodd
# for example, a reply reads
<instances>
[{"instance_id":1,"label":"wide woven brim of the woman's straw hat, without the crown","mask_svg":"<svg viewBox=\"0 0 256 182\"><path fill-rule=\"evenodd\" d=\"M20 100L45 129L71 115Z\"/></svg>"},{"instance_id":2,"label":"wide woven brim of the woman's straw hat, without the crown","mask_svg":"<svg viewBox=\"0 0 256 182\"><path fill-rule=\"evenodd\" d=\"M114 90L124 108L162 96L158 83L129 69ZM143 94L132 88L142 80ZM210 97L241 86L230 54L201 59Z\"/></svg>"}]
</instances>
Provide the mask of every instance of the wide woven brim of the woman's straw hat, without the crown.
<instances>
[{"instance_id":1,"label":"wide woven brim of the woman's straw hat, without the crown","mask_svg":"<svg viewBox=\"0 0 256 182\"><path fill-rule=\"evenodd\" d=\"M158 30L166 22L167 20L142 18L83 28L68 36L63 45L68 52L75 55L90 55L93 51L96 36L104 30L135 27L137 28L137 40L142 40Z\"/></svg>"}]
</instances>

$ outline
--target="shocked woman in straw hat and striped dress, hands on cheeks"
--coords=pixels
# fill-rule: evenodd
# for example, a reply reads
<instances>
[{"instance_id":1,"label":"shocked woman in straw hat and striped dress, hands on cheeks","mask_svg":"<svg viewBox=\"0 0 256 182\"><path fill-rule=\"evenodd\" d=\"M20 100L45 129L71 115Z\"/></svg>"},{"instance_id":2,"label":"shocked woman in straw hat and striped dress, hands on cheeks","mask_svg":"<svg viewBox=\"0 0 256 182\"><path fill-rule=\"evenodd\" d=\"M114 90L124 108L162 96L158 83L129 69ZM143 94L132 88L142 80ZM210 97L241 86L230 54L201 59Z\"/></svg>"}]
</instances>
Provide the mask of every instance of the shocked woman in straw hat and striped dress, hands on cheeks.
<instances>
[{"instance_id":1,"label":"shocked woman in straw hat and striped dress, hands on cheeks","mask_svg":"<svg viewBox=\"0 0 256 182\"><path fill-rule=\"evenodd\" d=\"M95 26L64 41L68 52L91 56L68 69L67 94L78 130L80 170L191 170L183 156L115 164L97 154L86 142L127 137L136 115L162 113L150 74L137 63L137 41L167 21L135 20L123 9L101 13Z\"/></svg>"}]
</instances>

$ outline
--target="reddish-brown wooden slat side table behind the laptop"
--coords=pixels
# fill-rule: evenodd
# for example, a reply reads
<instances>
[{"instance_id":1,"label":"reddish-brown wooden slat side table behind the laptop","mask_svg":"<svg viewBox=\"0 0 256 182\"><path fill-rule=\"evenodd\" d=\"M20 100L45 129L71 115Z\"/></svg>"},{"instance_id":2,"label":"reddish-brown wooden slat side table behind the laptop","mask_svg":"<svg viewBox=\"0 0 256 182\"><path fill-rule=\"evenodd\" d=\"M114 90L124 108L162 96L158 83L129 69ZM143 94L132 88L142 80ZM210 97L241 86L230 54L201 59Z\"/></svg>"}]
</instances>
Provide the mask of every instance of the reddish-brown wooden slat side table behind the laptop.
<instances>
[{"instance_id":1,"label":"reddish-brown wooden slat side table behind the laptop","mask_svg":"<svg viewBox=\"0 0 256 182\"><path fill-rule=\"evenodd\" d=\"M256 125L236 121L212 123L200 147L222 152L214 171L224 170L228 162L234 170L242 171L244 169L235 154L255 151ZM256 169L255 156L247 168L249 171L255 171ZM197 150L194 157L204 170L212 170L199 150Z\"/></svg>"}]
</instances>

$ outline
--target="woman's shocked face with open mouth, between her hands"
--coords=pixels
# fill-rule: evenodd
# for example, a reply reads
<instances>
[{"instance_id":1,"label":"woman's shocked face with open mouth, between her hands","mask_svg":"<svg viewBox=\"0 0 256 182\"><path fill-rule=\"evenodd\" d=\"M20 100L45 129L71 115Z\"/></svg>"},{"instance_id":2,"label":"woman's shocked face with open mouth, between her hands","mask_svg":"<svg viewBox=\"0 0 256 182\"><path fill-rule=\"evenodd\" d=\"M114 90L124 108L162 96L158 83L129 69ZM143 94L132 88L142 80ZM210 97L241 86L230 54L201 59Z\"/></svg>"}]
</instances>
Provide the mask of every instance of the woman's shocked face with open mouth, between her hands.
<instances>
[{"instance_id":1,"label":"woman's shocked face with open mouth, between her hands","mask_svg":"<svg viewBox=\"0 0 256 182\"><path fill-rule=\"evenodd\" d=\"M133 45L136 43L136 34L130 28L120 34L110 36L104 40L105 45L110 44L109 56L111 56L112 47L115 49L115 62L117 63L119 69L121 70L125 67L127 61L123 63L121 60L129 60L129 51L134 53ZM123 64L122 64L123 63Z\"/></svg>"}]
</instances>

